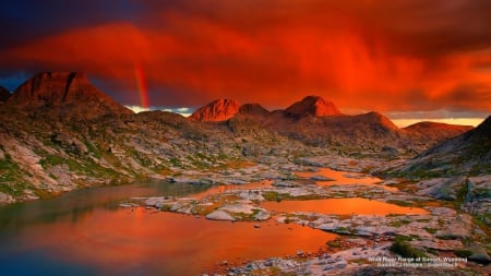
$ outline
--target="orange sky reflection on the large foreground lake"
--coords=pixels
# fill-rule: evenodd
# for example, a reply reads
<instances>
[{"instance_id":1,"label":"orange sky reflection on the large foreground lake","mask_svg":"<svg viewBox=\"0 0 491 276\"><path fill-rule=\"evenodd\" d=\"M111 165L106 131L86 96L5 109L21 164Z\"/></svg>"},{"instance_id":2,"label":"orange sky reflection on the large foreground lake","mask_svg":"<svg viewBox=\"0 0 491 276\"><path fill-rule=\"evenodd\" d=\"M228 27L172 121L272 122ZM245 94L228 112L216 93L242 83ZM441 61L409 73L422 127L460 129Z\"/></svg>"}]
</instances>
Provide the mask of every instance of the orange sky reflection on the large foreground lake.
<instances>
[{"instance_id":1,"label":"orange sky reflection on the large foreground lake","mask_svg":"<svg viewBox=\"0 0 491 276\"><path fill-rule=\"evenodd\" d=\"M246 260L318 251L336 236L298 225L212 221L144 208L96 209L75 224L38 225L22 233L28 248L48 248L68 263L97 267L103 274L132 272L199 275L224 260Z\"/></svg>"}]
</instances>

